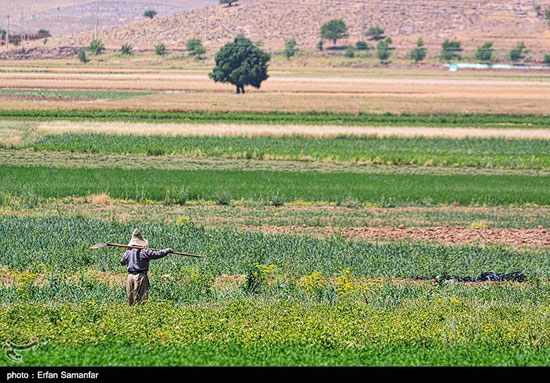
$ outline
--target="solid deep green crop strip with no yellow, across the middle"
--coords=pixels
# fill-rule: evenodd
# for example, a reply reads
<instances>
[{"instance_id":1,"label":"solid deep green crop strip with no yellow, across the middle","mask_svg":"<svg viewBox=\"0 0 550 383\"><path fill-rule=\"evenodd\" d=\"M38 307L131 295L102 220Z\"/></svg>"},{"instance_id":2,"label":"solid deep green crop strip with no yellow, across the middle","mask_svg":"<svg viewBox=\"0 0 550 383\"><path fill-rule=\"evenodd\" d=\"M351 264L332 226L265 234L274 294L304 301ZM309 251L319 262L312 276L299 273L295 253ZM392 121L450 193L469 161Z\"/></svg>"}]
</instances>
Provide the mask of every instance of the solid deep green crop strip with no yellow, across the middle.
<instances>
[{"instance_id":1,"label":"solid deep green crop strip with no yellow, across the middle","mask_svg":"<svg viewBox=\"0 0 550 383\"><path fill-rule=\"evenodd\" d=\"M37 197L107 193L114 198L184 203L298 199L395 205L550 205L550 176L292 173L0 167L0 193Z\"/></svg>"}]
</instances>

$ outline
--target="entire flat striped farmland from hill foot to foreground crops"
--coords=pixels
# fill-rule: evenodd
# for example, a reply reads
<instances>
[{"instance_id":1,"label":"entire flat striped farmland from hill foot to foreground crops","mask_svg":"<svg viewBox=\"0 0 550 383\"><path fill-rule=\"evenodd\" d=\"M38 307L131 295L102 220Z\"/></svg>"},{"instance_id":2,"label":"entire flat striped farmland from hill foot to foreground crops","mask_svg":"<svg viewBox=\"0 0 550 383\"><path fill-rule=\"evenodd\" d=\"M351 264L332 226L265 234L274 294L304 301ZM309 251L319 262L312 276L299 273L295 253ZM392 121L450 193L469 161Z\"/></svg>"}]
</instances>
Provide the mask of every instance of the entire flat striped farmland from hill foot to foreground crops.
<instances>
[{"instance_id":1,"label":"entire flat striped farmland from hill foot to foreground crops","mask_svg":"<svg viewBox=\"0 0 550 383\"><path fill-rule=\"evenodd\" d=\"M315 54L3 60L0 366L549 365L548 78Z\"/></svg>"}]
</instances>

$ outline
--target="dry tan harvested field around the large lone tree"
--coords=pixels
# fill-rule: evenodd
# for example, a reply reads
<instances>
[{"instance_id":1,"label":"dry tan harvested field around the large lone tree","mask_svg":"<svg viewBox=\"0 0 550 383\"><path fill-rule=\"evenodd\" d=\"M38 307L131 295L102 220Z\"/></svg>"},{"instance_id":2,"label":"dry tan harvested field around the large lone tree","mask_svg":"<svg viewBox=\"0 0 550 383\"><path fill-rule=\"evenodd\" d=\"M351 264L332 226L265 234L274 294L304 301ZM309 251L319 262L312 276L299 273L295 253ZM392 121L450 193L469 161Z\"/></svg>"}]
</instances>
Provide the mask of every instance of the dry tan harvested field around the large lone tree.
<instances>
[{"instance_id":1,"label":"dry tan harvested field around the large lone tree","mask_svg":"<svg viewBox=\"0 0 550 383\"><path fill-rule=\"evenodd\" d=\"M143 59L142 59L143 60ZM134 64L138 62L134 61ZM207 74L210 63L139 62L94 66L63 66L54 62L22 68L0 66L0 87L34 90L149 91L125 99L9 96L0 93L9 109L142 109L212 111L334 111L409 113L547 114L550 82L547 74L466 71L444 68L331 68L316 59L305 66L275 61L271 77L260 89L233 94L230 85L216 84ZM182 69L183 67L183 69Z\"/></svg>"}]
</instances>

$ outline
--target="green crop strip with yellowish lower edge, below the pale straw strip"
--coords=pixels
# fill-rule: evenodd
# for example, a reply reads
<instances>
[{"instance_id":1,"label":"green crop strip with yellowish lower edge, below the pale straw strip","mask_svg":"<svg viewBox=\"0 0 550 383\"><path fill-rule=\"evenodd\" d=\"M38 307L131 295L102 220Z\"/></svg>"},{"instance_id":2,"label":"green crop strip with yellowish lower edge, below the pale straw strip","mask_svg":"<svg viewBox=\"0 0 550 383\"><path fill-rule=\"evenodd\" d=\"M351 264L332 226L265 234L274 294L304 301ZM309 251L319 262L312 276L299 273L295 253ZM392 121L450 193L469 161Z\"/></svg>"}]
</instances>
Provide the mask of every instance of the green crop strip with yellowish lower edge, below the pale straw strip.
<instances>
[{"instance_id":1,"label":"green crop strip with yellowish lower edge, below the pale straw strip","mask_svg":"<svg viewBox=\"0 0 550 383\"><path fill-rule=\"evenodd\" d=\"M550 131L548 134L550 138ZM550 140L339 137L211 137L67 133L46 135L25 149L229 159L356 162L376 165L550 168Z\"/></svg>"}]
</instances>

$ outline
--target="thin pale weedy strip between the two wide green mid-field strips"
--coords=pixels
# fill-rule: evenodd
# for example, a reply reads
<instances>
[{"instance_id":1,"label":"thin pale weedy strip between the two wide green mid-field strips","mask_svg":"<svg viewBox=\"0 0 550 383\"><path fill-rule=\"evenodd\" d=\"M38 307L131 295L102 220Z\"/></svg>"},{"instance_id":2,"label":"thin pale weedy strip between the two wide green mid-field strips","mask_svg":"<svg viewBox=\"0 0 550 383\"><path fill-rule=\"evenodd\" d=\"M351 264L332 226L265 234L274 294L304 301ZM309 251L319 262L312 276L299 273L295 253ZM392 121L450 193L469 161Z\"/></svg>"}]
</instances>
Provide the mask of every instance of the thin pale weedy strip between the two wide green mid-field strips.
<instances>
[{"instance_id":1,"label":"thin pale weedy strip between the two wide green mid-field strips","mask_svg":"<svg viewBox=\"0 0 550 383\"><path fill-rule=\"evenodd\" d=\"M0 131L1 133L1 131ZM30 139L32 140L32 138ZM281 171L281 172L321 172L321 173L361 173L361 174L476 174L476 175L549 175L549 168L480 168L480 167L440 167L374 165L356 162L325 161L286 161L256 159L220 159L206 157L184 157L177 155L149 154L102 154L34 151L23 149L2 149L21 145L24 136L15 133L2 137L0 134L0 165L52 168L86 169L159 169L159 170L240 170L240 171Z\"/></svg>"}]
</instances>

